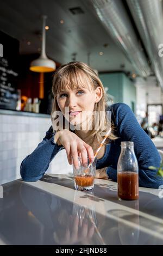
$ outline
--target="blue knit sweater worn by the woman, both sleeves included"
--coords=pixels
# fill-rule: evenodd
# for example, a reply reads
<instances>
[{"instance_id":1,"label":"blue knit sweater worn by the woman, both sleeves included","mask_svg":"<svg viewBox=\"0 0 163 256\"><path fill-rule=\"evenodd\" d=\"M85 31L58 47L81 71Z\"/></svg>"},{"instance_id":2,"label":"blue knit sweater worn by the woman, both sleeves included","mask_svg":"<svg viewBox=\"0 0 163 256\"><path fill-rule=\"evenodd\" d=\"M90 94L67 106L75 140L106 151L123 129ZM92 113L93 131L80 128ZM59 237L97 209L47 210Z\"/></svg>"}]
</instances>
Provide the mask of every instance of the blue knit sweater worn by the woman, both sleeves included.
<instances>
[{"instance_id":1,"label":"blue knit sweater worn by the woman, both sleeves included","mask_svg":"<svg viewBox=\"0 0 163 256\"><path fill-rule=\"evenodd\" d=\"M156 170L149 166L160 165L160 155L151 138L137 122L133 111L124 103L116 103L108 107L111 119L116 126L116 135L119 137L106 145L102 159L97 160L96 169L108 167L106 173L113 181L117 181L117 162L121 152L121 141L133 141L135 155L139 164L139 185L142 187L158 188L163 179ZM46 132L45 138L32 154L21 163L21 177L24 181L36 181L42 178L54 156L63 148L53 143L52 126Z\"/></svg>"}]
</instances>

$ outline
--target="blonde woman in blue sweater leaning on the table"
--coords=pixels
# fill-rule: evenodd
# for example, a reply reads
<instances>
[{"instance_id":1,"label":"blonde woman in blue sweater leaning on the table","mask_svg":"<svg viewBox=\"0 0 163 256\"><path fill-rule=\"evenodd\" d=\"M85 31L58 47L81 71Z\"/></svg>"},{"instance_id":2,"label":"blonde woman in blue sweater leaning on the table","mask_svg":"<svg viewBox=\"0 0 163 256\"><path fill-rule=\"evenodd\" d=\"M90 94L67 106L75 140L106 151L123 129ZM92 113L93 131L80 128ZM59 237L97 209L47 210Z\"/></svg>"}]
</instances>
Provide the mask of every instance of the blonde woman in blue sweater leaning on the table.
<instances>
[{"instance_id":1,"label":"blonde woman in blue sweater leaning on the table","mask_svg":"<svg viewBox=\"0 0 163 256\"><path fill-rule=\"evenodd\" d=\"M156 170L148 169L149 166L158 167L160 164L160 155L153 142L129 106L124 103L106 106L103 84L88 65L70 62L61 66L54 74L52 92L53 126L33 153L21 163L24 181L41 179L61 149L66 150L68 162L73 162L76 168L79 155L82 156L83 165L87 163L87 157L93 161L93 152L99 147L108 127L111 127L111 133L97 155L96 178L117 181L121 141L133 141L139 163L139 185L155 188L162 185ZM61 114L62 122L55 122L56 113Z\"/></svg>"}]
</instances>

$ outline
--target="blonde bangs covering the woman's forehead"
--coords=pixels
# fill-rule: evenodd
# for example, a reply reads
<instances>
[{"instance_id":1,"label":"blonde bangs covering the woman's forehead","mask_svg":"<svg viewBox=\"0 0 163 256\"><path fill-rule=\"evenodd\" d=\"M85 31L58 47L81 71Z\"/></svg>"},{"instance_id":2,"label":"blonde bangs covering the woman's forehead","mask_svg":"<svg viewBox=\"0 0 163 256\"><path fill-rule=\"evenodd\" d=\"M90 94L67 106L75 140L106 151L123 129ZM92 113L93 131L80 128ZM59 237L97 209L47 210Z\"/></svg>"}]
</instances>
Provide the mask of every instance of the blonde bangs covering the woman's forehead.
<instances>
[{"instance_id":1,"label":"blonde bangs covering the woman's forehead","mask_svg":"<svg viewBox=\"0 0 163 256\"><path fill-rule=\"evenodd\" d=\"M54 95L57 96L65 90L89 88L89 86L93 89L93 82L83 70L74 67L70 72L70 68L65 68L55 81Z\"/></svg>"}]
</instances>

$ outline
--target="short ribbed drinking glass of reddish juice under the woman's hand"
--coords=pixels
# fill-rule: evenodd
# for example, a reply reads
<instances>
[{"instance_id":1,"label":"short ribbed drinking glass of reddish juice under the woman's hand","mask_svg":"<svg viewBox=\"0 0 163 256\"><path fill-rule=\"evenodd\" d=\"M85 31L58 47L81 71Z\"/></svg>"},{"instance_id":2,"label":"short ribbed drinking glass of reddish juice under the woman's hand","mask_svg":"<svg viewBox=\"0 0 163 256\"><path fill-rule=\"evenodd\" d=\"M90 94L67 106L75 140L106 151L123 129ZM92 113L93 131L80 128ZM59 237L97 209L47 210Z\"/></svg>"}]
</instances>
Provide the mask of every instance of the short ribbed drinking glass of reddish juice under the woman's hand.
<instances>
[{"instance_id":1,"label":"short ribbed drinking glass of reddish juice under the woman's hand","mask_svg":"<svg viewBox=\"0 0 163 256\"><path fill-rule=\"evenodd\" d=\"M87 166L82 165L82 157L78 157L78 166L76 169L73 165L74 174L74 187L76 190L90 191L93 190L95 173L96 173L96 158L89 168L89 159L87 161Z\"/></svg>"}]
</instances>

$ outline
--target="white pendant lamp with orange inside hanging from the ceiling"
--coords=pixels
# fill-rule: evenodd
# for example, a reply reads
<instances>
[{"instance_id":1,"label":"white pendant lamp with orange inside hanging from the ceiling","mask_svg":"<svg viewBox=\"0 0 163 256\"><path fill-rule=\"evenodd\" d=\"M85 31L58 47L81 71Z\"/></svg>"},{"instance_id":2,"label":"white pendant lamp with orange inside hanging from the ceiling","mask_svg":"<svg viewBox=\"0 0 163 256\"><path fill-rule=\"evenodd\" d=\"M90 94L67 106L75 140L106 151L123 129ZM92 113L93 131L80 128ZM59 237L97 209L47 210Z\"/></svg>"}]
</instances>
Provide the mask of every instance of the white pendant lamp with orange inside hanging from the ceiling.
<instances>
[{"instance_id":1,"label":"white pendant lamp with orange inside hanging from the ceiling","mask_svg":"<svg viewBox=\"0 0 163 256\"><path fill-rule=\"evenodd\" d=\"M47 16L42 16L42 48L41 48L41 56L38 59L35 59L30 63L30 70L34 72L52 72L55 70L56 65L53 60L48 59L46 56L46 38L45 38L45 25L46 25Z\"/></svg>"}]
</instances>

